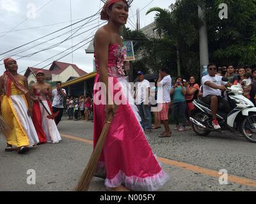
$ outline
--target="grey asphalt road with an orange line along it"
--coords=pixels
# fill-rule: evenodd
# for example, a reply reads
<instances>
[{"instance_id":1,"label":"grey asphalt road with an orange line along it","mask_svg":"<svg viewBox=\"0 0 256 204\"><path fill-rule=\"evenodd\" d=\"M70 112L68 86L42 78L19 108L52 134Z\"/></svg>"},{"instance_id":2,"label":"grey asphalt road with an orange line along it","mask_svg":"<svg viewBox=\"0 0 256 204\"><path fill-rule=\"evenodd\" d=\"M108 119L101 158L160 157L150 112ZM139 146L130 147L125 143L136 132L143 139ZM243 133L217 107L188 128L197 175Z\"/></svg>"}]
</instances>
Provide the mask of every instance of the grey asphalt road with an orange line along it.
<instances>
[{"instance_id":1,"label":"grey asphalt road with an orange line along it","mask_svg":"<svg viewBox=\"0 0 256 204\"><path fill-rule=\"evenodd\" d=\"M63 120L59 130L61 143L39 145L24 155L4 152L0 137L0 191L74 191L92 154L93 123ZM159 138L162 131L148 134L154 154L170 175L159 191L256 191L255 143L232 133L202 137L173 131L171 138ZM223 169L227 185L219 183ZM35 170L36 184L27 183L28 170ZM90 191L106 191L104 180L94 178Z\"/></svg>"}]
</instances>

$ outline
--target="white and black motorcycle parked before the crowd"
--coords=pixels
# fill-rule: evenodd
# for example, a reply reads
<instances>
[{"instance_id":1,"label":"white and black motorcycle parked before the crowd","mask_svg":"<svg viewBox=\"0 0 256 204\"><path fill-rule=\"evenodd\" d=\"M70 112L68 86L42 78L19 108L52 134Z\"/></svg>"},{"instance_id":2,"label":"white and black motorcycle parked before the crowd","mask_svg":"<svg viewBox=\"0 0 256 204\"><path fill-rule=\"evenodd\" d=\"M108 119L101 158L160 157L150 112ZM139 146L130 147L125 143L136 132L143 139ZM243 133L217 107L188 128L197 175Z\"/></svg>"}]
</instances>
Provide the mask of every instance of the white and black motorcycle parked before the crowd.
<instances>
[{"instance_id":1,"label":"white and black motorcycle parked before the crowd","mask_svg":"<svg viewBox=\"0 0 256 204\"><path fill-rule=\"evenodd\" d=\"M227 82L227 78L222 80ZM207 136L211 132L229 130L232 133L241 133L248 142L256 143L256 107L250 99L243 96L241 85L232 85L228 87L227 98L230 107L230 113L221 110L221 103L218 106L216 119L221 129L214 129L212 126L211 106L200 100L194 100L195 110L189 118L192 122L193 131L199 136Z\"/></svg>"}]
</instances>

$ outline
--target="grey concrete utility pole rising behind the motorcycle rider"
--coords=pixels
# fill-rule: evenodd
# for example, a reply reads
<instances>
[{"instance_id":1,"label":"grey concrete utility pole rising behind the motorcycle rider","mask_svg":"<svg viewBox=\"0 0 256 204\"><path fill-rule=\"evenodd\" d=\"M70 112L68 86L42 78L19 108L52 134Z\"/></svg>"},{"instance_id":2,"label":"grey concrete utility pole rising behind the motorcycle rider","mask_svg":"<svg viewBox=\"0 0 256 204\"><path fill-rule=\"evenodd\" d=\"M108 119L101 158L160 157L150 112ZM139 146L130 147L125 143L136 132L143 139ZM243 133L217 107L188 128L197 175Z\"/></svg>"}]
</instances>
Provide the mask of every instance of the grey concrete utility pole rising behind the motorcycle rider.
<instances>
[{"instance_id":1,"label":"grey concrete utility pole rising behind the motorcycle rider","mask_svg":"<svg viewBox=\"0 0 256 204\"><path fill-rule=\"evenodd\" d=\"M208 50L207 24L205 21L205 11L204 11L204 8L201 8L200 6L198 6L198 17L203 22L203 25L199 28L200 76L202 78L202 71L205 71L204 66L207 66L209 64L209 50Z\"/></svg>"}]
</instances>

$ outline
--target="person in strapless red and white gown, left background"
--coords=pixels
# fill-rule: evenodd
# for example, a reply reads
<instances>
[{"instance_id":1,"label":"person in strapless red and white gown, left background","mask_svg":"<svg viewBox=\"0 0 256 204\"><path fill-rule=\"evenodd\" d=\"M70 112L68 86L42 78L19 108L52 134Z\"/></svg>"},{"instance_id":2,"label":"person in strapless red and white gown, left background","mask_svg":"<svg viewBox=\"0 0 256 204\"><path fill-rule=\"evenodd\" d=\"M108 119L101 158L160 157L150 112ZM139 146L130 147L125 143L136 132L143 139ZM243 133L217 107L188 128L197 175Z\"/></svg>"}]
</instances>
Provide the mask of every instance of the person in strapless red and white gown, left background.
<instances>
[{"instance_id":1,"label":"person in strapless red and white gown, left background","mask_svg":"<svg viewBox=\"0 0 256 204\"><path fill-rule=\"evenodd\" d=\"M45 75L42 70L36 72L36 83L30 87L31 99L33 103L33 124L40 143L59 143L60 133L54 122L54 118L49 119L52 114L51 102L52 87L45 83Z\"/></svg>"}]
</instances>

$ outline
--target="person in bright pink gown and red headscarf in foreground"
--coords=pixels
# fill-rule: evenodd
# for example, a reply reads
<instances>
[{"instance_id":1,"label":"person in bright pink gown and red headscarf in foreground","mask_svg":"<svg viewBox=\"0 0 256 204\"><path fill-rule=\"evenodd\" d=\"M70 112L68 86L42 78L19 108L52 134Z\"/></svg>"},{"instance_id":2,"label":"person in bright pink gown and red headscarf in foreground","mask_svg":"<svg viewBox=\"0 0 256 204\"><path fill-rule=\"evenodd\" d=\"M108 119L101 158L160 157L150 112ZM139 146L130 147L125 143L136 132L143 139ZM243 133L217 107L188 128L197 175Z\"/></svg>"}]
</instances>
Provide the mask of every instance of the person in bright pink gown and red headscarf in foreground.
<instances>
[{"instance_id":1,"label":"person in bright pink gown and red headscarf in foreground","mask_svg":"<svg viewBox=\"0 0 256 204\"><path fill-rule=\"evenodd\" d=\"M102 20L108 20L108 24L101 27L94 38L97 75L93 91L93 147L99 140L106 116L115 109L111 102L116 104L116 98L126 102L119 104L115 112L97 174L106 176L105 185L110 191L156 191L163 187L168 175L157 162L145 138L138 109L132 95L126 90L126 50L119 31L127 22L128 11L127 1L106 1L100 15ZM106 94L103 96L102 84L106 85ZM121 89L113 89L116 85ZM104 101L102 98L106 99L106 103L100 102Z\"/></svg>"}]
</instances>

